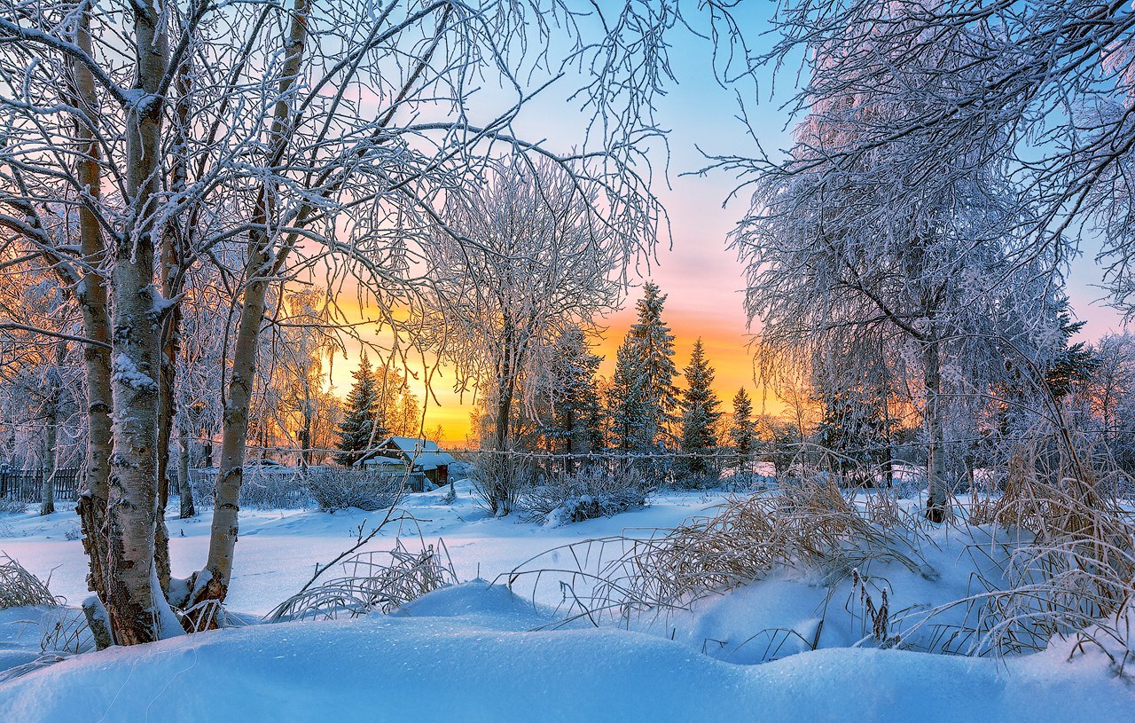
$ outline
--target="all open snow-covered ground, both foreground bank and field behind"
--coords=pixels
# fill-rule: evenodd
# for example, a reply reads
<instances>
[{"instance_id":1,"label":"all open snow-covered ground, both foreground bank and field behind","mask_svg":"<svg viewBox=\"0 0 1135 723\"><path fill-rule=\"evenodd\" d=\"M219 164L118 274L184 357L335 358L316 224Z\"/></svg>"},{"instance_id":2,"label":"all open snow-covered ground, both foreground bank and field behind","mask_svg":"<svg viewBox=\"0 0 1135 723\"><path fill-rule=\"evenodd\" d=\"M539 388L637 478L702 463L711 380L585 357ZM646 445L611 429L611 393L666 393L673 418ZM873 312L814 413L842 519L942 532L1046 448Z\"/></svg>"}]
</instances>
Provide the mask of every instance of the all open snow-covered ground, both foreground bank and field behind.
<instances>
[{"instance_id":1,"label":"all open snow-covered ground, both foreground bank and field behind","mask_svg":"<svg viewBox=\"0 0 1135 723\"><path fill-rule=\"evenodd\" d=\"M386 616L253 625L75 656L0 683L0 721L1068 722L1120 721L1135 709L1135 684L1099 651L1067 662L1067 641L1000 663L866 646L850 583L830 594L805 570L699 600L688 612L637 619L631 630L586 620L553 624L562 599L554 579L535 590L535 605L530 578L513 590L489 585L544 550L645 536L712 514L724 499L664 493L641 511L546 528L491 518L461 486L453 504L443 491L413 495L407 512L427 544L445 540L462 585ZM269 612L306 582L316 563L350 547L359 527L380 516L242 513L229 607L249 616ZM167 522L174 574L186 575L204 560L208 511ZM76 604L86 595L81 543L68 539L76 530L70 511L6 514L0 553L50 577L52 591ZM395 538L384 530L367 549L389 549ZM965 597L974 540L961 538L948 528L933 538L925 554L932 574L877 564L876 597L886 587L892 611L911 611L908 625L919 609ZM417 530L404 526L403 540L415 548ZM977 543L994 555L997 540ZM535 566L571 568L570 557L561 549ZM22 621L43 615L0 612L0 669L39 656L40 627Z\"/></svg>"}]
</instances>

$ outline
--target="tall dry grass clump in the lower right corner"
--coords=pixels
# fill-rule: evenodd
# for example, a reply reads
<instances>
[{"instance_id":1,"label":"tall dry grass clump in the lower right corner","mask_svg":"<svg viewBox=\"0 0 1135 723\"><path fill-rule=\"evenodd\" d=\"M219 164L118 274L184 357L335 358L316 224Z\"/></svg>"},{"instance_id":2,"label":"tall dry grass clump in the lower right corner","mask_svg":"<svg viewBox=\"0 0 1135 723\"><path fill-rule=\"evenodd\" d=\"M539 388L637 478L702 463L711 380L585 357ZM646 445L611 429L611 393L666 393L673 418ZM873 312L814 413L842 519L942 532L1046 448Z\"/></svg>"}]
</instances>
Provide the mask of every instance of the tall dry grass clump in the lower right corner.
<instances>
[{"instance_id":1,"label":"tall dry grass clump in the lower right corner","mask_svg":"<svg viewBox=\"0 0 1135 723\"><path fill-rule=\"evenodd\" d=\"M966 607L961 625L942 628L943 649L1002 656L1069 636L1087 636L1105 651L1133 649L1126 615L1135 598L1135 516L1100 493L1101 478L1115 474L1108 460L1085 462L1087 446L1068 439L1037 435L1016 445L1004 493L970 504L970 524L1002 530L1004 562L975 565L987 571L974 575L974 594L918 623ZM992 561L985 550L972 554Z\"/></svg>"}]
</instances>

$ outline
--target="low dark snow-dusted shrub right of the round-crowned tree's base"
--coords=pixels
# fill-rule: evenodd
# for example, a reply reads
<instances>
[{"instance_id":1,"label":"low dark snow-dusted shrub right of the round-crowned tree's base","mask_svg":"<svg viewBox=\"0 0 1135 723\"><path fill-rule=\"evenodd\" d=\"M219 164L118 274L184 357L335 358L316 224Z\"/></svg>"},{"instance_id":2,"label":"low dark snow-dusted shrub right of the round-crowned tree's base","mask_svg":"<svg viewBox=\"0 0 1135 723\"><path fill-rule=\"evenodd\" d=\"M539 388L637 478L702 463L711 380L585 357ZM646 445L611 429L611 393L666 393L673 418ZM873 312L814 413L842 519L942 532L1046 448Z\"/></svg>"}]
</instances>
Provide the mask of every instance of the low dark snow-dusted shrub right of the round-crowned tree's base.
<instances>
[{"instance_id":1,"label":"low dark snow-dusted shrub right of the round-crowned tree's base","mask_svg":"<svg viewBox=\"0 0 1135 723\"><path fill-rule=\"evenodd\" d=\"M642 507L651 491L633 469L592 465L527 489L519 507L528 520L558 527Z\"/></svg>"}]
</instances>

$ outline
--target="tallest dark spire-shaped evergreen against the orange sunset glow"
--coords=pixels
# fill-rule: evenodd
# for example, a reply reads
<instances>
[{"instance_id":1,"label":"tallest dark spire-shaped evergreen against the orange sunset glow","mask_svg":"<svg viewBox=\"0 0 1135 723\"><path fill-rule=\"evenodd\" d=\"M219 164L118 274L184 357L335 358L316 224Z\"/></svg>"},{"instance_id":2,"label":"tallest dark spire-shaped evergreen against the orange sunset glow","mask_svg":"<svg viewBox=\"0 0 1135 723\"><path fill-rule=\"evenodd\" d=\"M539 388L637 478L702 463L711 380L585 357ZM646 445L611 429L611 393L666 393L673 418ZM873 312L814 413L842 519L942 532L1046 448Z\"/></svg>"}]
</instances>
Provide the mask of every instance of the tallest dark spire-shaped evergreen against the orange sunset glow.
<instances>
[{"instance_id":1,"label":"tallest dark spire-shaped evergreen against the orange sunset glow","mask_svg":"<svg viewBox=\"0 0 1135 723\"><path fill-rule=\"evenodd\" d=\"M679 392L674 386L678 369L674 365L674 336L662 320L666 295L654 281L642 287L638 302L638 321L627 333L624 345L636 358L636 369L641 376L644 413L639 423L649 432L645 447L666 445L672 439Z\"/></svg>"}]
</instances>

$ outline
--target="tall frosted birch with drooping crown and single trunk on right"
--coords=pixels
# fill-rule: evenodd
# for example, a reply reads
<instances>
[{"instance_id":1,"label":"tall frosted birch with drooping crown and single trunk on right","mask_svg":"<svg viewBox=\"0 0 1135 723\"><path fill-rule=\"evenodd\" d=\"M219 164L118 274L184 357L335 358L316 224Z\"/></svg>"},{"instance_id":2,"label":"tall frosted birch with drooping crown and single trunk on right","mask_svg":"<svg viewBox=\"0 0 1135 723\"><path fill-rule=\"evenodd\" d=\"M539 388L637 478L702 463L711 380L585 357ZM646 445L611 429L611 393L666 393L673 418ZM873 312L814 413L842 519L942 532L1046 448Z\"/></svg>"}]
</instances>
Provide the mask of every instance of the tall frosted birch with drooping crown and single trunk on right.
<instances>
[{"instance_id":1,"label":"tall frosted birch with drooping crown and single trunk on right","mask_svg":"<svg viewBox=\"0 0 1135 723\"><path fill-rule=\"evenodd\" d=\"M876 84L908 85L901 53L876 45L875 32L848 27L817 42L816 75L846 69L855 56ZM949 400L984 390L1006 353L998 337L1035 350L1051 316L1041 311L1051 302L1044 264L1020 262L1024 239L1014 236L1033 197L1011 183L1003 133L943 138L909 129L885 149L846 149L882 119L900 123L949 93L951 78L967 77L974 51L968 35L928 48L923 67L940 73L917 78L923 84L908 95L876 95L848 81L842 92L812 99L791 154L763 171L733 236L766 371L815 372L830 360L854 369L880 353L902 360L922 395L933 521L949 514Z\"/></svg>"}]
</instances>

